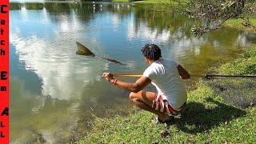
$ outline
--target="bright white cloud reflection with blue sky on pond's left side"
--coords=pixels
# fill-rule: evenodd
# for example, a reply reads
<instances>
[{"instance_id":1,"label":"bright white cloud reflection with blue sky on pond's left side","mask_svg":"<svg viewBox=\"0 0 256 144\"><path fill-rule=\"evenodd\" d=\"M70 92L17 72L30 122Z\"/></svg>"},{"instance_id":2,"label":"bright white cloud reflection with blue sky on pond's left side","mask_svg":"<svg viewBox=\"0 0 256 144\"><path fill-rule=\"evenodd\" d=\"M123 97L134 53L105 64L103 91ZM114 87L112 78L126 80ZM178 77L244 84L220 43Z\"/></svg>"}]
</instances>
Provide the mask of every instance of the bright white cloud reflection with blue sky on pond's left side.
<instances>
[{"instance_id":1,"label":"bright white cloud reflection with blue sky on pond's left side","mask_svg":"<svg viewBox=\"0 0 256 144\"><path fill-rule=\"evenodd\" d=\"M15 30L11 29L10 42L14 43L19 60L25 63L27 70L38 74L43 83L43 95L66 100L78 96L86 82L98 78L105 70L104 62L75 54L75 42L82 38L80 34L59 34L79 27L74 14L70 14L71 18L62 15L61 22L47 24L45 22L50 22L45 20L47 16L42 16L46 13L36 13L37 17L30 14L10 20L15 26ZM90 62L98 65L90 66Z\"/></svg>"}]
</instances>

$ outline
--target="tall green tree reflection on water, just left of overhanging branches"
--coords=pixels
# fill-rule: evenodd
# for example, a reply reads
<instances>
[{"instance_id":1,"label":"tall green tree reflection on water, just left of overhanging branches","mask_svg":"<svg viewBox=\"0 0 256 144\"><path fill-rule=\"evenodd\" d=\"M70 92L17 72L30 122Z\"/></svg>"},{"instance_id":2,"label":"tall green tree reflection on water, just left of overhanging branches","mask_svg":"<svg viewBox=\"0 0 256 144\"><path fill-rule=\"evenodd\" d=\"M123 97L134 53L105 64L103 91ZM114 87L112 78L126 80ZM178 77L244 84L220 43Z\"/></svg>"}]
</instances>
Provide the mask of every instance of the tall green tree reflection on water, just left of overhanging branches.
<instances>
[{"instance_id":1,"label":"tall green tree reflection on water, just left of overhanging branches","mask_svg":"<svg viewBox=\"0 0 256 144\"><path fill-rule=\"evenodd\" d=\"M130 14L134 14L134 32L138 34L138 29L141 28L142 23L146 23L146 28L151 31L156 31L156 35L162 34L164 30L170 31L171 35L174 35L176 39L190 38L192 36L190 28L193 25L193 21L182 15L182 11L174 8L171 12L159 12L158 8L167 10L170 7L157 7L153 10L152 6L144 5L109 5L108 11L118 15L118 18L130 17ZM163 10L164 11L164 10ZM142 25L145 26L145 25Z\"/></svg>"}]
</instances>

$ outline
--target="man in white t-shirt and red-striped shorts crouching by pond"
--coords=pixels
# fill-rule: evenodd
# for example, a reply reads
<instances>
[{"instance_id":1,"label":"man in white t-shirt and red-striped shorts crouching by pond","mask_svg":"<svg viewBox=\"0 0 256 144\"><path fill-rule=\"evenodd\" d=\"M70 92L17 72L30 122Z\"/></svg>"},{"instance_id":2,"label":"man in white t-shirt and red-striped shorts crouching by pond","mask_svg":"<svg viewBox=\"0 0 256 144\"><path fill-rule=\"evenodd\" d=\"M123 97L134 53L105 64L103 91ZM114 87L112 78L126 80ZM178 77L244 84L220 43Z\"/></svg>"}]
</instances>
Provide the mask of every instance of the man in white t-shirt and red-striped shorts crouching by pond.
<instances>
[{"instance_id":1,"label":"man in white t-shirt and red-striped shorts crouching by pond","mask_svg":"<svg viewBox=\"0 0 256 144\"><path fill-rule=\"evenodd\" d=\"M136 82L122 82L110 73L103 73L102 77L115 86L129 90L130 101L136 106L157 114L154 123L168 122L171 115L178 114L186 104L182 79L190 78L190 74L174 60L162 58L161 50L154 44L144 46L142 54L150 66ZM150 83L156 87L157 93L143 90Z\"/></svg>"}]
</instances>

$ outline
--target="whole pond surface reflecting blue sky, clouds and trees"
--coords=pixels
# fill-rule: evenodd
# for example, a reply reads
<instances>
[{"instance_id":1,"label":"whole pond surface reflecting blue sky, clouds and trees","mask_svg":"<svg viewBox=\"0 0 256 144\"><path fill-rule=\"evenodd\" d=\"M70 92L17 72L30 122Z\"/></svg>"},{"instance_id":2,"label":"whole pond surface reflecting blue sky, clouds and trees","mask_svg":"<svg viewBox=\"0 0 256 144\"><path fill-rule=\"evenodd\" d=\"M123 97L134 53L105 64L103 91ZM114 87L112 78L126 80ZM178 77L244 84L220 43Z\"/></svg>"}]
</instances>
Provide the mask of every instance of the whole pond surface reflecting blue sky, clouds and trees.
<instances>
[{"instance_id":1,"label":"whole pond surface reflecting blue sky, clouds and trees","mask_svg":"<svg viewBox=\"0 0 256 144\"><path fill-rule=\"evenodd\" d=\"M190 74L206 74L256 42L255 34L227 27L194 37L193 23L180 11L130 4L11 3L10 142L75 141L94 116L130 113L129 93L101 75L142 74L147 64L140 50L147 43ZM76 42L126 66L76 55Z\"/></svg>"}]
</instances>

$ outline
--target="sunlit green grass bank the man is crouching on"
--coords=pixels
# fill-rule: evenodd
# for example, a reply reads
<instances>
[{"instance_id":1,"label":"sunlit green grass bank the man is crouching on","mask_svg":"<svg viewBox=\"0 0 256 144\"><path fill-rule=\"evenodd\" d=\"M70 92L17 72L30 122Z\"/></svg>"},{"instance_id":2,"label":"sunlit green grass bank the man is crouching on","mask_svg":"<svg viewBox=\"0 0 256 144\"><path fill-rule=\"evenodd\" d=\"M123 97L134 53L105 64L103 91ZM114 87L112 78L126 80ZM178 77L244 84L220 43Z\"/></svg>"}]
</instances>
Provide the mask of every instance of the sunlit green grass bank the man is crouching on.
<instances>
[{"instance_id":1,"label":"sunlit green grass bank the man is crouching on","mask_svg":"<svg viewBox=\"0 0 256 144\"><path fill-rule=\"evenodd\" d=\"M222 65L218 72L256 74L255 67L256 46L252 46L235 61ZM153 126L150 120L154 115L146 111L138 111L127 117L96 118L92 130L78 143L255 142L256 106L250 106L254 104L252 102L255 102L255 99L250 102L249 107L240 109L235 103L228 102L225 97L217 93L216 87L212 84L209 80L198 82L198 88L189 92L188 110L176 116L174 122L168 125ZM222 81L218 84L226 86ZM227 91L232 96L229 90L222 91ZM255 97L255 91L252 87L247 93Z\"/></svg>"}]
</instances>

